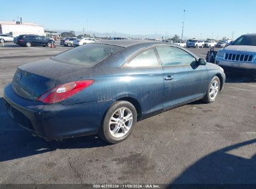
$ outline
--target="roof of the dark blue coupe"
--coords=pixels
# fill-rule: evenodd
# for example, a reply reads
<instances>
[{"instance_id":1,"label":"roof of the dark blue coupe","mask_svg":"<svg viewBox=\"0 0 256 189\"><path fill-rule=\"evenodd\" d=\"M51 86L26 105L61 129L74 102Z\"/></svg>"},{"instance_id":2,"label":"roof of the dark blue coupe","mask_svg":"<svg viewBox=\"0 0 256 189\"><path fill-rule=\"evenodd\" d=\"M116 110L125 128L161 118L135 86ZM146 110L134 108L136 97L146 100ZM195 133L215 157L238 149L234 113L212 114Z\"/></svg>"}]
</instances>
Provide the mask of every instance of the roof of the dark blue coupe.
<instances>
[{"instance_id":1,"label":"roof of the dark blue coupe","mask_svg":"<svg viewBox=\"0 0 256 189\"><path fill-rule=\"evenodd\" d=\"M155 45L155 44L166 44L164 42L158 42L153 40L105 40L96 42L97 44L116 45L119 47L130 47L132 45Z\"/></svg>"}]
</instances>

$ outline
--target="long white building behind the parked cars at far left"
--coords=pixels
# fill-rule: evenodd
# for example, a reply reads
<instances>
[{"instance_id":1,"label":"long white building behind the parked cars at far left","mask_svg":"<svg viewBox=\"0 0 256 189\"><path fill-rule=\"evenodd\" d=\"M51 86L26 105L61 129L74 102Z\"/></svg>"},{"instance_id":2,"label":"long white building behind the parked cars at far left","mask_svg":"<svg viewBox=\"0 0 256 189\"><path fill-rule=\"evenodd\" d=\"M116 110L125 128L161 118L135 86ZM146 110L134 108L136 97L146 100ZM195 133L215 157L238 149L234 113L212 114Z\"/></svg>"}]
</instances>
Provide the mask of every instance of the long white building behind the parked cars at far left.
<instances>
[{"instance_id":1,"label":"long white building behind the parked cars at far left","mask_svg":"<svg viewBox=\"0 0 256 189\"><path fill-rule=\"evenodd\" d=\"M22 34L45 35L44 27L22 21L0 21L0 34L11 34L13 37Z\"/></svg>"}]
</instances>

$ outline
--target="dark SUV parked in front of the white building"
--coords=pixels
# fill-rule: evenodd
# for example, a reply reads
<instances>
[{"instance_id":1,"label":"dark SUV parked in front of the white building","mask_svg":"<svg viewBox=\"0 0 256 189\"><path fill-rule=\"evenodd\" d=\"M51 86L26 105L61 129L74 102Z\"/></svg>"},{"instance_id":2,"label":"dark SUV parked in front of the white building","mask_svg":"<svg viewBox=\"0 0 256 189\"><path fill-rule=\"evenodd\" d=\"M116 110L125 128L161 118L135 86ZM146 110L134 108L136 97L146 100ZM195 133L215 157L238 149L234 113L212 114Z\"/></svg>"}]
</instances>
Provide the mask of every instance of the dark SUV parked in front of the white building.
<instances>
[{"instance_id":1,"label":"dark SUV parked in front of the white building","mask_svg":"<svg viewBox=\"0 0 256 189\"><path fill-rule=\"evenodd\" d=\"M19 35L16 44L24 47L31 47L31 46L50 47L51 44L54 44L54 40L44 39L44 37L41 37L39 35Z\"/></svg>"}]
</instances>

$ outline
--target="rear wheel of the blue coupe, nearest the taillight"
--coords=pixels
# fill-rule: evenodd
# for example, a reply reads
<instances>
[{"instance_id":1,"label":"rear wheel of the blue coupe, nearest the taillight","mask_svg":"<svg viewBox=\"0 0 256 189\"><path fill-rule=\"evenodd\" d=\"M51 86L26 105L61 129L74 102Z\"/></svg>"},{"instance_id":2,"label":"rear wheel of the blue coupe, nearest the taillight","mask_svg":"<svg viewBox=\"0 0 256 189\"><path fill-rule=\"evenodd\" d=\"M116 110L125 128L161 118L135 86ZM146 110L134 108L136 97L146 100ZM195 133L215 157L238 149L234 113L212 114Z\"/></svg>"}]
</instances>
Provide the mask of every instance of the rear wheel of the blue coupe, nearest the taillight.
<instances>
[{"instance_id":1,"label":"rear wheel of the blue coupe, nearest the taillight","mask_svg":"<svg viewBox=\"0 0 256 189\"><path fill-rule=\"evenodd\" d=\"M111 144L127 139L137 121L135 106L128 101L116 101L105 114L98 135Z\"/></svg>"}]
</instances>

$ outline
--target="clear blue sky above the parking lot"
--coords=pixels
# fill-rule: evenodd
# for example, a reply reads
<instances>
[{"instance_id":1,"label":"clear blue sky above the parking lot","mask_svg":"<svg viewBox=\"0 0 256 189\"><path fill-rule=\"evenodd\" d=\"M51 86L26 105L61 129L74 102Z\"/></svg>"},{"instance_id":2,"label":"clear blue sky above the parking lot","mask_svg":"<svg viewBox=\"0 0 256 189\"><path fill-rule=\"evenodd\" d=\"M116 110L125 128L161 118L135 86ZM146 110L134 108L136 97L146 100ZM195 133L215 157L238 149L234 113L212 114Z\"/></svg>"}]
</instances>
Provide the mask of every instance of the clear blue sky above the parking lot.
<instances>
[{"instance_id":1,"label":"clear blue sky above the parking lot","mask_svg":"<svg viewBox=\"0 0 256 189\"><path fill-rule=\"evenodd\" d=\"M3 0L2 0L3 1ZM255 0L12 0L3 1L1 21L36 22L51 30L239 37L256 32Z\"/></svg>"}]
</instances>

